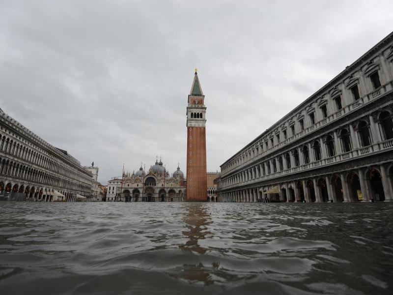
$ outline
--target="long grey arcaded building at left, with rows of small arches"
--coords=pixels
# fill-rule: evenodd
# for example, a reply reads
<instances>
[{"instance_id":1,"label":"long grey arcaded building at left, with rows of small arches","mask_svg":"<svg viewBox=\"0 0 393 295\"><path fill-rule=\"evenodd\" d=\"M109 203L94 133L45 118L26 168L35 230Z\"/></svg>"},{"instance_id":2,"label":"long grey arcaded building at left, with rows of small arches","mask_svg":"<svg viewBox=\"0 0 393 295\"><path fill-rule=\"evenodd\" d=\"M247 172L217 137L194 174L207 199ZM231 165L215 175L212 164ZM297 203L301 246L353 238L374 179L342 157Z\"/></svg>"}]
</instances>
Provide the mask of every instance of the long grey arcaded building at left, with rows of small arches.
<instances>
[{"instance_id":1,"label":"long grey arcaded building at left, with rows of small arches","mask_svg":"<svg viewBox=\"0 0 393 295\"><path fill-rule=\"evenodd\" d=\"M0 109L0 200L93 201L92 174Z\"/></svg>"}]
</instances>

